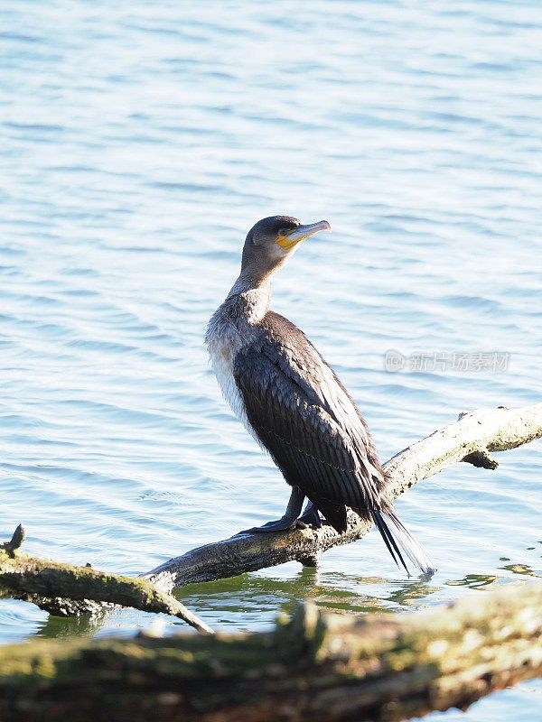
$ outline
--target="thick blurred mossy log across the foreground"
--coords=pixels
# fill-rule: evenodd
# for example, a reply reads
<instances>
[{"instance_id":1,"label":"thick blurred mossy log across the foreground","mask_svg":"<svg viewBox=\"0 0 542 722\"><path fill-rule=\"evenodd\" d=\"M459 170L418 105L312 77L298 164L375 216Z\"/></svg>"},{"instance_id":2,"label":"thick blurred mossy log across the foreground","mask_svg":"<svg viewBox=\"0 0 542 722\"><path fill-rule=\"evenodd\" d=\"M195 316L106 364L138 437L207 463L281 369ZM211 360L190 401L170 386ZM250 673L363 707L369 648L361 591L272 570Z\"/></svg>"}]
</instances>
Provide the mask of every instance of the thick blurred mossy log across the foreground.
<instances>
[{"instance_id":1,"label":"thick blurred mossy log across the foreground","mask_svg":"<svg viewBox=\"0 0 542 722\"><path fill-rule=\"evenodd\" d=\"M0 647L3 722L397 722L542 674L542 584L414 615L297 607L270 633Z\"/></svg>"}]
</instances>

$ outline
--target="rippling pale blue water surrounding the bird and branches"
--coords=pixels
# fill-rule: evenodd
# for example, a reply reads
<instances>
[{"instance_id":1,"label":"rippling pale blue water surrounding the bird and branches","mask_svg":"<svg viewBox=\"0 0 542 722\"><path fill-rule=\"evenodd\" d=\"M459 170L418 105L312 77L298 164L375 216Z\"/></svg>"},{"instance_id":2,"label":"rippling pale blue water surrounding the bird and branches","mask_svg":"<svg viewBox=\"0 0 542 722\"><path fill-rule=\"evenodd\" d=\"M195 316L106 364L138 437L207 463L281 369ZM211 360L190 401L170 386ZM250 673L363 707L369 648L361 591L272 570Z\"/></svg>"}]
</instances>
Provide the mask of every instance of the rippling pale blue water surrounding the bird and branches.
<instances>
[{"instance_id":1,"label":"rippling pale blue water surrounding the bird and branches","mask_svg":"<svg viewBox=\"0 0 542 722\"><path fill-rule=\"evenodd\" d=\"M332 223L276 278L275 308L339 372L383 459L459 412L539 400L541 19L497 0L3 2L2 538L23 522L27 551L136 574L282 514L286 487L202 347L248 227L273 213ZM411 370L416 352L509 368ZM303 597L360 615L475 604L540 576L538 450L398 502L430 581L373 533L318 572L179 596L251 630ZM0 603L2 642L149 623ZM531 722L541 690L430 718Z\"/></svg>"}]
</instances>

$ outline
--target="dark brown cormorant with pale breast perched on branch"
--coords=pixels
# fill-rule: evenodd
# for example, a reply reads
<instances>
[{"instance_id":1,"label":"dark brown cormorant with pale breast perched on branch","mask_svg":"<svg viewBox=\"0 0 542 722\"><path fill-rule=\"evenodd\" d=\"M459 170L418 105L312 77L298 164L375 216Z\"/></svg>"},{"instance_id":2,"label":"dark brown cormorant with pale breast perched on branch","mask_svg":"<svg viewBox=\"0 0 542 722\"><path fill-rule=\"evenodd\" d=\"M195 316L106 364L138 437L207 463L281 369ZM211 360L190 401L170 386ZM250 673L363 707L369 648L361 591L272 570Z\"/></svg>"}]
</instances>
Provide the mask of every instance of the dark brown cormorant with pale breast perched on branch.
<instances>
[{"instance_id":1,"label":"dark brown cormorant with pale breast perched on branch","mask_svg":"<svg viewBox=\"0 0 542 722\"><path fill-rule=\"evenodd\" d=\"M397 567L409 573L406 556L430 574L431 560L391 503L390 480L360 409L303 331L270 309L273 275L302 241L331 229L326 220L259 220L248 231L238 279L207 327L224 398L291 486L285 514L247 531L318 529L322 514L345 532L350 507L375 523Z\"/></svg>"}]
</instances>

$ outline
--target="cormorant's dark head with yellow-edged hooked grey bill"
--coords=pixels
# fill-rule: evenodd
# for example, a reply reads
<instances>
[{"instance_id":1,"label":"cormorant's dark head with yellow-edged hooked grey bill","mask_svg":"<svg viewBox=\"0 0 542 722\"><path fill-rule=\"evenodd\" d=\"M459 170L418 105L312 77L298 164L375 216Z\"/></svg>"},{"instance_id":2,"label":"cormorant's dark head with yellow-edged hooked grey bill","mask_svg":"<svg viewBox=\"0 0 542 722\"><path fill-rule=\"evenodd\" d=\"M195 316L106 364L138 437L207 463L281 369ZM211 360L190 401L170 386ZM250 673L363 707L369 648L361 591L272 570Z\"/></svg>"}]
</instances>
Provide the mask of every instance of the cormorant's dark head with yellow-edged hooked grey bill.
<instances>
[{"instance_id":1,"label":"cormorant's dark head with yellow-edged hooked grey bill","mask_svg":"<svg viewBox=\"0 0 542 722\"><path fill-rule=\"evenodd\" d=\"M303 225L291 216L270 216L258 220L248 231L243 247L241 273L264 280L278 270L305 238L331 231L327 220Z\"/></svg>"}]
</instances>

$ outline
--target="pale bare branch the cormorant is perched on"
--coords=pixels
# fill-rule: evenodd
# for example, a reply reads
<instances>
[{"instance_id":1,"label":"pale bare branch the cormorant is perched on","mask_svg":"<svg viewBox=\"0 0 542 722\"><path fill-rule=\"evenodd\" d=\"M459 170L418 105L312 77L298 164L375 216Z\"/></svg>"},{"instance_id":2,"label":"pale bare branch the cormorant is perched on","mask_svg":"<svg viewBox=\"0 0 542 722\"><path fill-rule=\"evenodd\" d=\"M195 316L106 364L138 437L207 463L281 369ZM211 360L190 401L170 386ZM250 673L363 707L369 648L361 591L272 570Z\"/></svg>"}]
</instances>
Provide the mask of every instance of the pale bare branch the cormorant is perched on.
<instances>
[{"instance_id":1,"label":"pale bare branch the cormorant is perched on","mask_svg":"<svg viewBox=\"0 0 542 722\"><path fill-rule=\"evenodd\" d=\"M464 461L476 467L496 468L493 451L515 449L542 437L542 403L521 409L482 409L462 413L455 423L399 452L384 465L391 478L392 497L418 481L433 477ZM157 588L171 591L194 582L233 577L247 571L301 561L314 565L323 551L360 539L372 523L350 512L348 529L342 534L331 526L320 530L296 529L267 534L245 532L222 542L188 551L166 561L144 576Z\"/></svg>"}]
</instances>

